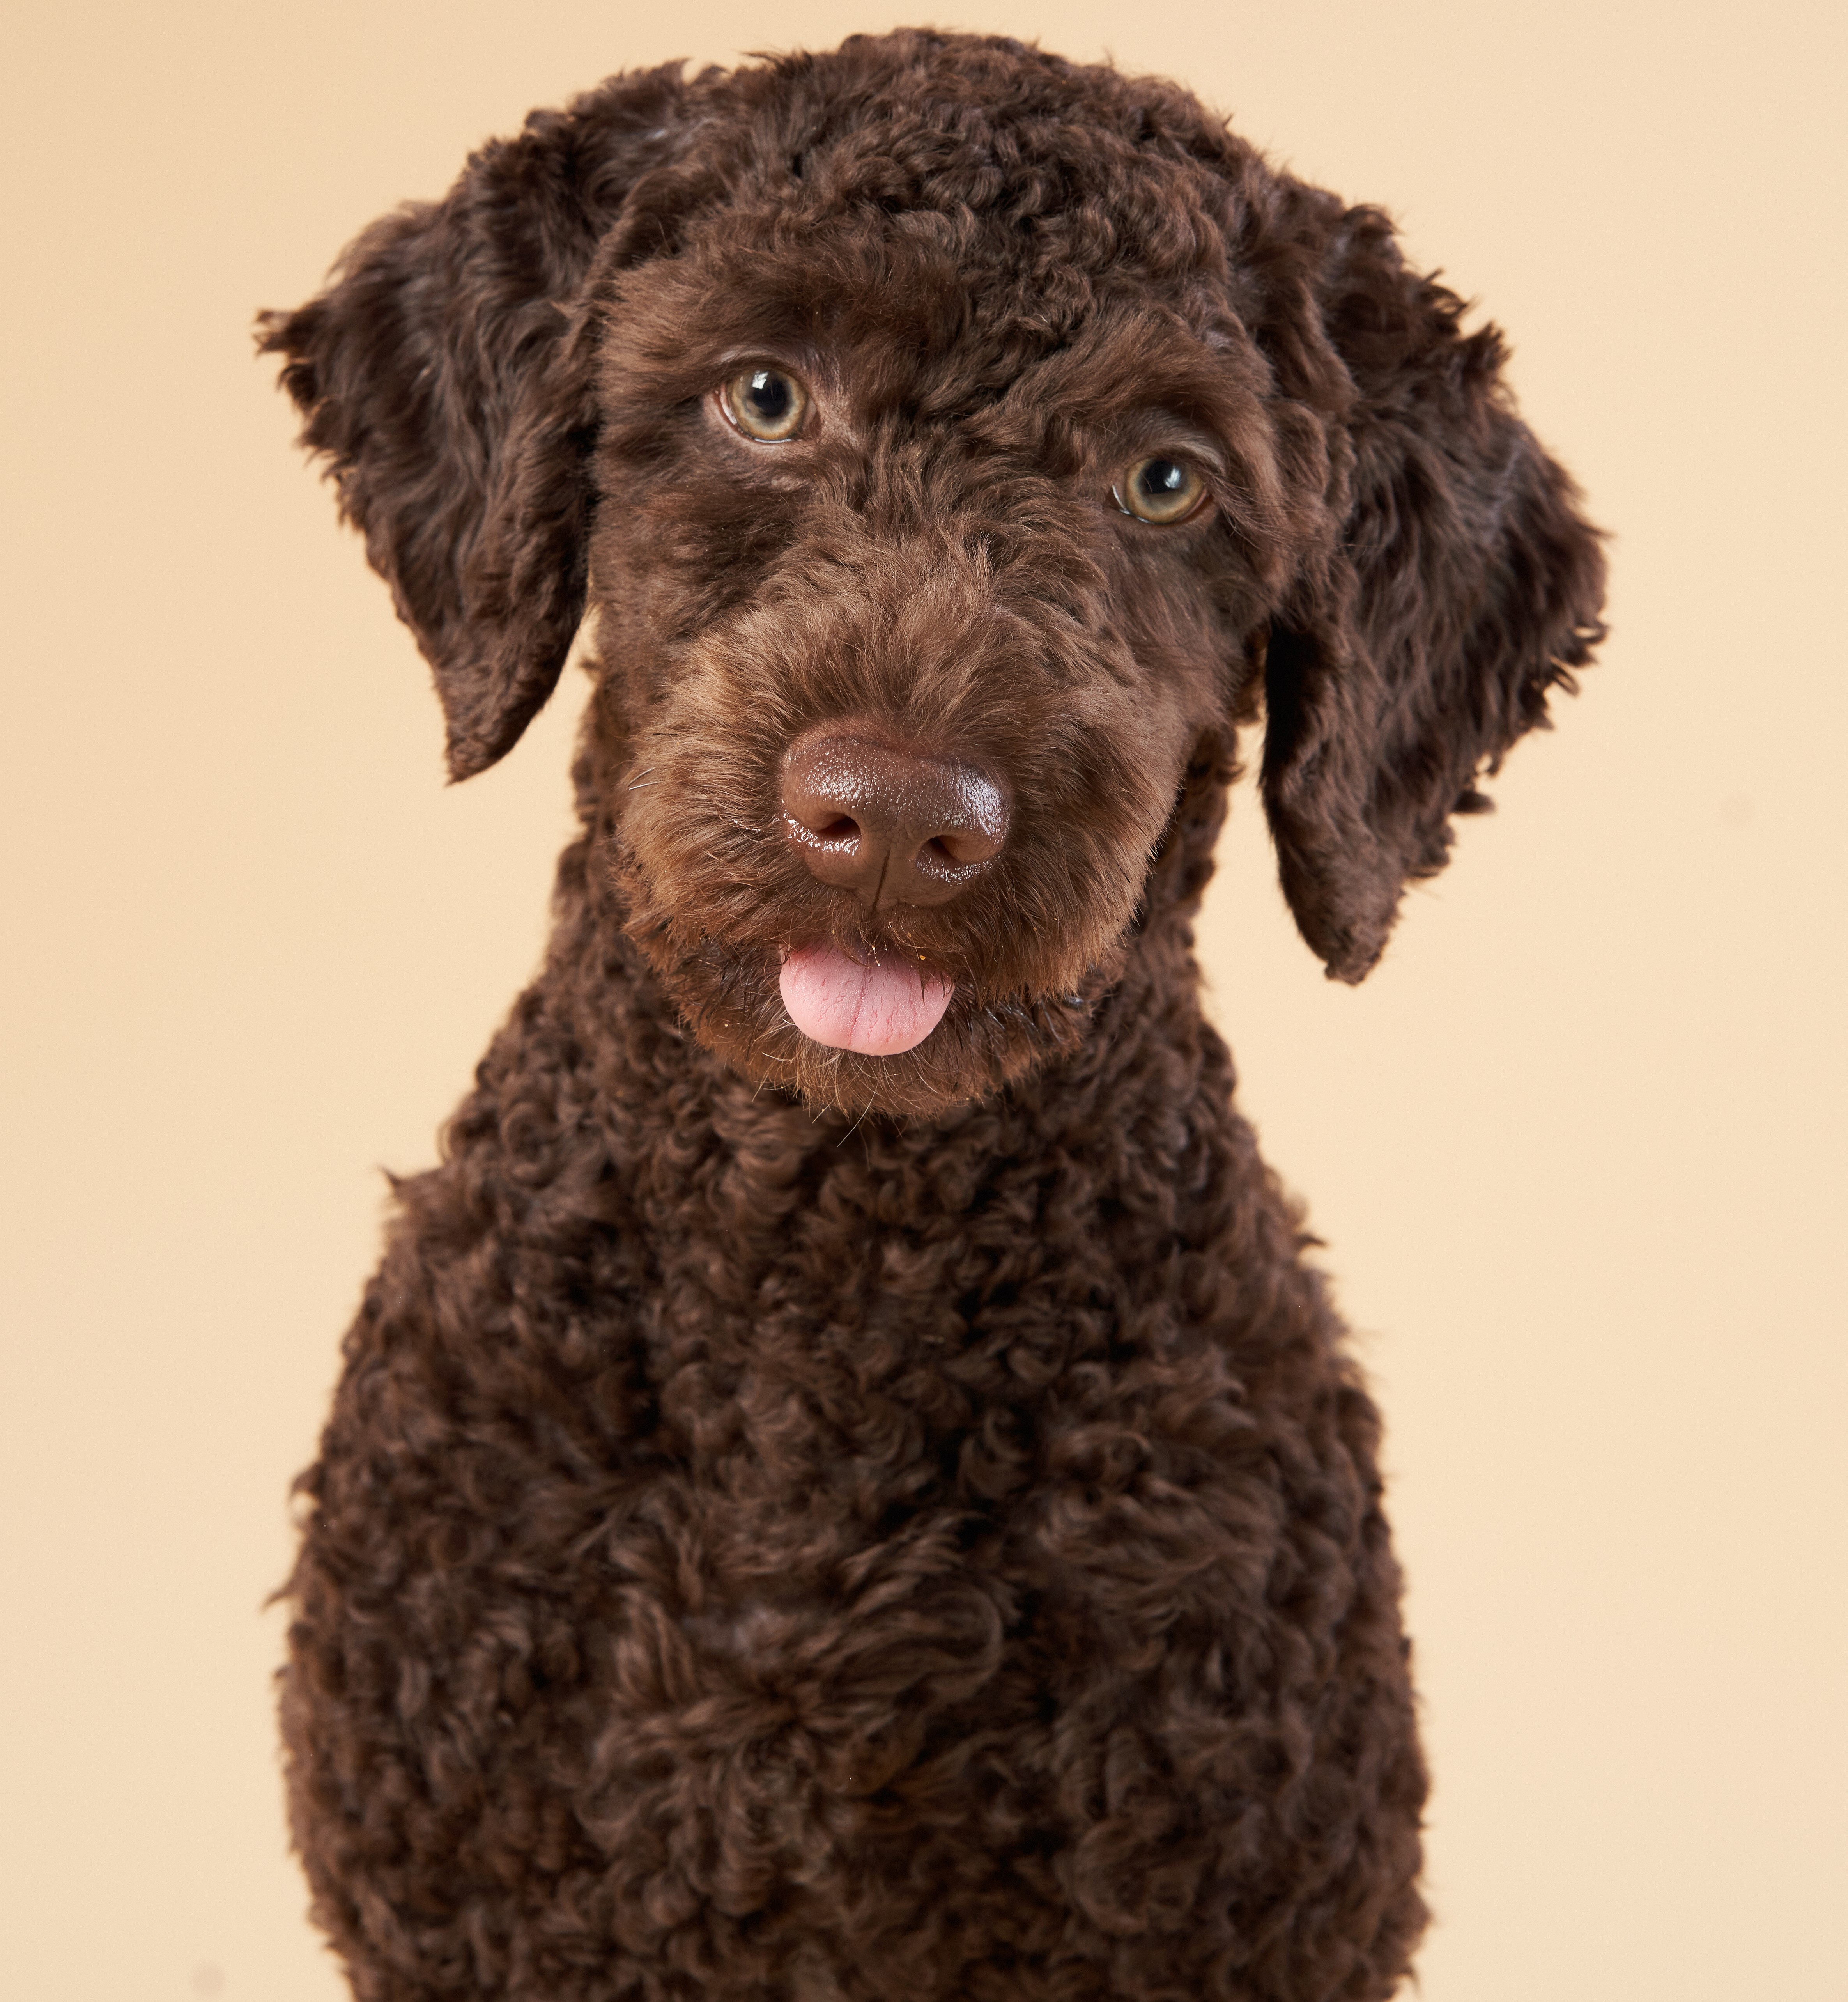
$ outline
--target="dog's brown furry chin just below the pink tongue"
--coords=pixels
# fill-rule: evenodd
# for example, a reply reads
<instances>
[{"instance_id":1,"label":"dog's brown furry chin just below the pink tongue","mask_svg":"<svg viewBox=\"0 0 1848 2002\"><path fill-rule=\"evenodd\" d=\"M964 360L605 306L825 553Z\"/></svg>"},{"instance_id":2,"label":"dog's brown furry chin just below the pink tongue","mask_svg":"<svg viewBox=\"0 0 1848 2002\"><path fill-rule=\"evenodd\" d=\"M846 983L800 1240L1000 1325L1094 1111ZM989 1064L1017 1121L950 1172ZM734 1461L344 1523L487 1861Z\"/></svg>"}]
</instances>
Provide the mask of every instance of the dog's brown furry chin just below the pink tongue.
<instances>
[{"instance_id":1,"label":"dog's brown furry chin just below the pink tongue","mask_svg":"<svg viewBox=\"0 0 1848 2002\"><path fill-rule=\"evenodd\" d=\"M643 949L703 1049L753 1087L849 1119L939 1119L1069 1057L1115 977L1113 965L1093 967L1069 993L999 997L959 979L927 1035L879 1055L805 1035L785 1005L775 955L713 939L675 951L657 937Z\"/></svg>"}]
</instances>

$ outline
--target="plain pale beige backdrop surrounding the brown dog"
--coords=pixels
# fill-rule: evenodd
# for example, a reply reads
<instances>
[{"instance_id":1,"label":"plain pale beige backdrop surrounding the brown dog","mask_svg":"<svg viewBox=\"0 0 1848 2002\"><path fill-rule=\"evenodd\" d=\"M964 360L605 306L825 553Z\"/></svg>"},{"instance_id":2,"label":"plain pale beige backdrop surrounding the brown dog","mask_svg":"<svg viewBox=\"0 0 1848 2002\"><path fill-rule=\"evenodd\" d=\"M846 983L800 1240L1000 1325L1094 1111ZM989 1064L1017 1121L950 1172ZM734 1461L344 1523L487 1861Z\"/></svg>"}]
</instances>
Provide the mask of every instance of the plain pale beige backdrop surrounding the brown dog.
<instances>
[{"instance_id":1,"label":"plain pale beige backdrop surrounding the brown dog","mask_svg":"<svg viewBox=\"0 0 1848 2002\"><path fill-rule=\"evenodd\" d=\"M250 358L609 70L871 6L44 8L8 28L0 1986L332 2002L264 1594L380 1165L541 941L579 691L444 791ZM1390 1417L1428 2002L1848 1996L1842 46L1824 8L937 16L1191 82L1394 208L1616 529L1606 661L1359 991L1239 801L1205 923Z\"/></svg>"}]
</instances>

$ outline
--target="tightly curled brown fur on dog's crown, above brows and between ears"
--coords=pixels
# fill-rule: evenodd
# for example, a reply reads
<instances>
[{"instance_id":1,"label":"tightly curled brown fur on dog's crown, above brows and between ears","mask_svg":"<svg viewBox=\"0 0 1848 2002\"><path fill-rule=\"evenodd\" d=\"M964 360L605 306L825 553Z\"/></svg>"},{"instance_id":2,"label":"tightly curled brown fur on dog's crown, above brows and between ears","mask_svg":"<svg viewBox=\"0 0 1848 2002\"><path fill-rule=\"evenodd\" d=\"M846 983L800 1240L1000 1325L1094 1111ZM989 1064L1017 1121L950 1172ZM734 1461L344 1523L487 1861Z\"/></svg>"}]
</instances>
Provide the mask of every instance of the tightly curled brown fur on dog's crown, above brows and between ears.
<instances>
[{"instance_id":1,"label":"tightly curled brown fur on dog's crown, above brows and between ears","mask_svg":"<svg viewBox=\"0 0 1848 2002\"><path fill-rule=\"evenodd\" d=\"M1249 148L1171 86L949 54L849 44L727 78L723 130L699 128L717 172L647 254L681 270L621 290L673 296L683 334L751 300L765 332L825 320L965 362L1061 346L1111 292L1213 338Z\"/></svg>"}]
</instances>

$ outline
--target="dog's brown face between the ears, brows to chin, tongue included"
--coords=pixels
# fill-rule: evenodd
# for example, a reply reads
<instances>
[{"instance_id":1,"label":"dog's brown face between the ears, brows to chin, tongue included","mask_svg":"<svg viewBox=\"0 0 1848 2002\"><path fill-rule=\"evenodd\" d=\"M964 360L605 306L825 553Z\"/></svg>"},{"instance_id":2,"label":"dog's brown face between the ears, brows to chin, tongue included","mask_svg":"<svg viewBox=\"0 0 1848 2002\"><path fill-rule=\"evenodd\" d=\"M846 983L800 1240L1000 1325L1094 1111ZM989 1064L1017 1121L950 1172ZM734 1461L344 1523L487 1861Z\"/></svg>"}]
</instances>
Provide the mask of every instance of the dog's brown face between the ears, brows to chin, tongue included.
<instances>
[{"instance_id":1,"label":"dog's brown face between the ears, brows to chin, tongue included","mask_svg":"<svg viewBox=\"0 0 1848 2002\"><path fill-rule=\"evenodd\" d=\"M1017 246L803 192L605 314L609 849L711 1047L933 1111L1081 1033L1283 509L1249 350L1147 292L1027 340Z\"/></svg>"}]
</instances>

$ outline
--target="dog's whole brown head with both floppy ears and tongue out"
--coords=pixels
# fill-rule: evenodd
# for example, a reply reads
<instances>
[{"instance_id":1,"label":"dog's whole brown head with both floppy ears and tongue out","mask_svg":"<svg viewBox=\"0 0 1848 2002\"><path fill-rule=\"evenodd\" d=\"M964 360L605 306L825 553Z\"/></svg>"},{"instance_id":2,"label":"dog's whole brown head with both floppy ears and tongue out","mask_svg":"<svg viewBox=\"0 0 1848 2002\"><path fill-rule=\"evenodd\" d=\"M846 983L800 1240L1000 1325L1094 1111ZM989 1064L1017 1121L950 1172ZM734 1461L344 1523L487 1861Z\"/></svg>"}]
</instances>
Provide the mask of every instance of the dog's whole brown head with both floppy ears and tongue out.
<instances>
[{"instance_id":1,"label":"dog's whole brown head with both floppy ears and tongue out","mask_svg":"<svg viewBox=\"0 0 1848 2002\"><path fill-rule=\"evenodd\" d=\"M699 1037L935 1111L1081 1035L1265 711L1377 959L1598 639L1494 330L1193 98L1013 42L615 78L264 318L456 777L587 605L627 923Z\"/></svg>"}]
</instances>

